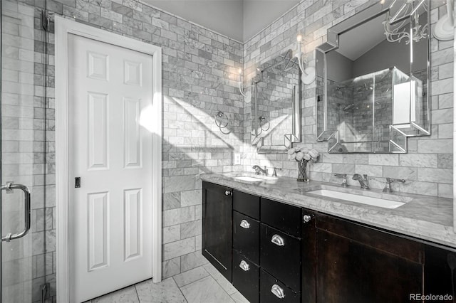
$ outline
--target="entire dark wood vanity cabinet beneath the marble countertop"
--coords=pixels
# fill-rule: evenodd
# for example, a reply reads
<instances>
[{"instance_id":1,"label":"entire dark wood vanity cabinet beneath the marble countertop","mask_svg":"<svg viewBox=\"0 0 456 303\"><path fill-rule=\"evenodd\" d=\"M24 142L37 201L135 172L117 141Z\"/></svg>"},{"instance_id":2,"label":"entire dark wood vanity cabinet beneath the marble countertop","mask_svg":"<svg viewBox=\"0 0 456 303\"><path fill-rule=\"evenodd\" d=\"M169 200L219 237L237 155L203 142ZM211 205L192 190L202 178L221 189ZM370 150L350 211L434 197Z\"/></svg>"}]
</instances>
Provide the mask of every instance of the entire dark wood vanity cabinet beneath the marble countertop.
<instances>
[{"instance_id":1,"label":"entire dark wood vanity cabinet beneath the marble countertop","mask_svg":"<svg viewBox=\"0 0 456 303\"><path fill-rule=\"evenodd\" d=\"M455 249L207 182L202 245L249 302L455 298Z\"/></svg>"}]
</instances>

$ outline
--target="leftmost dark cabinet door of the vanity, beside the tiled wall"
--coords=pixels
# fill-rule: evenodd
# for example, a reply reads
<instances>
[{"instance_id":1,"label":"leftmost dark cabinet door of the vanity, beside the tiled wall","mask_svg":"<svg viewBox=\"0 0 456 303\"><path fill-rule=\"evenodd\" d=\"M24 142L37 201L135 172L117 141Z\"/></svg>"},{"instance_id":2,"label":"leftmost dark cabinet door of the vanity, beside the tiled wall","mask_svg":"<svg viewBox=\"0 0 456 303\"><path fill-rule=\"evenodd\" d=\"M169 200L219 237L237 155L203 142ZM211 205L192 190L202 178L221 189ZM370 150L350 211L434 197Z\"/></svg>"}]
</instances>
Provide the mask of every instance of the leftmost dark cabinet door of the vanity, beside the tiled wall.
<instances>
[{"instance_id":1,"label":"leftmost dark cabinet door of the vanity, beside the tiled wall","mask_svg":"<svg viewBox=\"0 0 456 303\"><path fill-rule=\"evenodd\" d=\"M232 189L202 184L202 255L232 280Z\"/></svg>"}]
</instances>

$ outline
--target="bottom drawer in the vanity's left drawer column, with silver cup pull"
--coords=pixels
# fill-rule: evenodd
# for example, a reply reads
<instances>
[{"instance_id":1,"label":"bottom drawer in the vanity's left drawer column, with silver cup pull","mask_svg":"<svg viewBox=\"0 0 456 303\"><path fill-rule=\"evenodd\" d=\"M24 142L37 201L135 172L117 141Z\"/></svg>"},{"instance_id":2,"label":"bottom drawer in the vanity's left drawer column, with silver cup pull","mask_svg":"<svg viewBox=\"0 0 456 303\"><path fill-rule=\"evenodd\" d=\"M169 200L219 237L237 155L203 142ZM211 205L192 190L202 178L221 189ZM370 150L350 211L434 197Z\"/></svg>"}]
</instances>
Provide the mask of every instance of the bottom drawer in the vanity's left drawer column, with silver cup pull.
<instances>
[{"instance_id":1,"label":"bottom drawer in the vanity's left drawer column, with silver cup pull","mask_svg":"<svg viewBox=\"0 0 456 303\"><path fill-rule=\"evenodd\" d=\"M233 250L233 286L249 300L259 302L259 267Z\"/></svg>"}]
</instances>

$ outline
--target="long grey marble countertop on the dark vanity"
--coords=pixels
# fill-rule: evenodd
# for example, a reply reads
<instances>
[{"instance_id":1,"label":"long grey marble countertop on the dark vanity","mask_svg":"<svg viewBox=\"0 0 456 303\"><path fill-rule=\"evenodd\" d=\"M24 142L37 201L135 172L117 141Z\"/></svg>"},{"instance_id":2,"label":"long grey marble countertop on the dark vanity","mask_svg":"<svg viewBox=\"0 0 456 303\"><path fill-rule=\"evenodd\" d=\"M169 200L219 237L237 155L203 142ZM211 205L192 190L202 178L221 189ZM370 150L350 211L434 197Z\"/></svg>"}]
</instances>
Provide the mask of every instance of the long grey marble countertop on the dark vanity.
<instances>
[{"instance_id":1,"label":"long grey marble countertop on the dark vanity","mask_svg":"<svg viewBox=\"0 0 456 303\"><path fill-rule=\"evenodd\" d=\"M252 182L233 179L236 176L262 178L250 173L238 172L202 174L201 179L257 196L264 196L294 206L321 211L456 248L452 199L415 195L413 193L383 193L379 189L361 190L356 186L343 188L338 184L319 181L298 182L289 177L268 178ZM308 193L316 189L335 189L347 193L354 191L363 196L402 201L405 202L405 205L389 209Z\"/></svg>"}]
</instances>

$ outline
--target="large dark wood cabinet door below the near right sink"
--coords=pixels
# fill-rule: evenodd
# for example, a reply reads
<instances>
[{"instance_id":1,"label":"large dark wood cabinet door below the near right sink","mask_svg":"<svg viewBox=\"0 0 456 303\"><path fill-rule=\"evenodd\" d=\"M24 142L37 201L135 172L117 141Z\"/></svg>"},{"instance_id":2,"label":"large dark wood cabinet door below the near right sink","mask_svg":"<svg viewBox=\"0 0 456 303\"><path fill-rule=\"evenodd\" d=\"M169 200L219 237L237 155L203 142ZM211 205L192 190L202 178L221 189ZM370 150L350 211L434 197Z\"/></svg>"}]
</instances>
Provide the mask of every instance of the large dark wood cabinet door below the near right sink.
<instances>
[{"instance_id":1,"label":"large dark wood cabinet door below the near right sink","mask_svg":"<svg viewBox=\"0 0 456 303\"><path fill-rule=\"evenodd\" d=\"M416 248L423 255L420 245L345 220L328 221L326 230L316 232L317 302L410 302L410 294L423 294L423 262L408 253Z\"/></svg>"}]
</instances>

